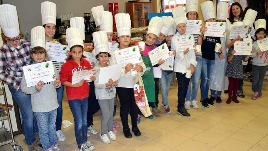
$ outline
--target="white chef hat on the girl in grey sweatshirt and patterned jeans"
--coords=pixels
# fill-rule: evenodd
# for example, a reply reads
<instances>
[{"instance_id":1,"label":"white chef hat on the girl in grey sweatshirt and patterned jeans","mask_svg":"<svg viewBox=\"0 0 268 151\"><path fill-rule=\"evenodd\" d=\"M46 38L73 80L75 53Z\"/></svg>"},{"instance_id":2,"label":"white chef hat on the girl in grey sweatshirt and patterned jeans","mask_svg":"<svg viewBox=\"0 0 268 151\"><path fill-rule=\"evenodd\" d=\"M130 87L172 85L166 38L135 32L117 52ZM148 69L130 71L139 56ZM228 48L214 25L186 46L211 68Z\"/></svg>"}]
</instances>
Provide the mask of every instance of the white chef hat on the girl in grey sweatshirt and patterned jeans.
<instances>
[{"instance_id":1,"label":"white chef hat on the girl in grey sweatshirt and patterned jeans","mask_svg":"<svg viewBox=\"0 0 268 151\"><path fill-rule=\"evenodd\" d=\"M31 48L34 47L43 47L46 49L46 36L43 26L36 26L31 30Z\"/></svg>"}]
</instances>

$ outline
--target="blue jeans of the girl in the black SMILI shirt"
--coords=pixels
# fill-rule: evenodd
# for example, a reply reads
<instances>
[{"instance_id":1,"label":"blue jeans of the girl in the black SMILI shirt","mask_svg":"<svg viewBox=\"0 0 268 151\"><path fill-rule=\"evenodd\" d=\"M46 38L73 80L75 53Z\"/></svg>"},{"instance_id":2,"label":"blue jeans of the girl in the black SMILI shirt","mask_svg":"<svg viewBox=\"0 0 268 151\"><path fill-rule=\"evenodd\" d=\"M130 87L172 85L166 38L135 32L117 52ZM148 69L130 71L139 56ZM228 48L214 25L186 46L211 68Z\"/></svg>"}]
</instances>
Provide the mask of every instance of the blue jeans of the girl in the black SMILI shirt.
<instances>
[{"instance_id":1,"label":"blue jeans of the girl in the black SMILI shirt","mask_svg":"<svg viewBox=\"0 0 268 151\"><path fill-rule=\"evenodd\" d=\"M208 97L208 90L210 87L211 76L214 69L215 60L204 59L202 60L201 70L201 100Z\"/></svg>"}]
</instances>

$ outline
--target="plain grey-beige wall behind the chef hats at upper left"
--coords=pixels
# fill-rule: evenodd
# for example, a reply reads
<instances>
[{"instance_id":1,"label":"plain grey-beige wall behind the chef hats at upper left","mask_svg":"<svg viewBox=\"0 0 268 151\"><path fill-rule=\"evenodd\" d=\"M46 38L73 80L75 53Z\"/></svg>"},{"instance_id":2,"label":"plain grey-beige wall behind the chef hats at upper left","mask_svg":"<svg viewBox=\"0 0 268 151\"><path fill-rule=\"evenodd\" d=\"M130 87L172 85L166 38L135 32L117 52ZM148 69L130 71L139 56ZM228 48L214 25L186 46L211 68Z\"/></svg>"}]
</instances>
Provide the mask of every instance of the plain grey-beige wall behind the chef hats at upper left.
<instances>
[{"instance_id":1,"label":"plain grey-beige wall behind the chef hats at upper left","mask_svg":"<svg viewBox=\"0 0 268 151\"><path fill-rule=\"evenodd\" d=\"M103 5L108 11L108 3L118 2L119 13L125 12L125 2L128 0L3 0L3 4L17 7L21 32L31 31L31 28L41 25L41 2L50 1L57 4L57 13L65 14L70 11L73 16L83 17L84 13L91 13L91 8ZM93 17L91 15L91 20Z\"/></svg>"}]
</instances>

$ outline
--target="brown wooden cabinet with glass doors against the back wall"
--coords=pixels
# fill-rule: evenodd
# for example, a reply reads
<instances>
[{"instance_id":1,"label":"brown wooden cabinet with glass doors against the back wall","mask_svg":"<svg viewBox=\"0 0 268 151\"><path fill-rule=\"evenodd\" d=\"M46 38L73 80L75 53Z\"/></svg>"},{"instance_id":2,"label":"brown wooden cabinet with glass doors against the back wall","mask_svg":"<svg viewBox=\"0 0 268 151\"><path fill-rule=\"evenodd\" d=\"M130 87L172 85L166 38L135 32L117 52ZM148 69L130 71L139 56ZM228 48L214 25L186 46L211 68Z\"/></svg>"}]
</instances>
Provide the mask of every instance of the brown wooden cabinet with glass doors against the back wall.
<instances>
[{"instance_id":1,"label":"brown wooden cabinet with glass doors against the back wall","mask_svg":"<svg viewBox=\"0 0 268 151\"><path fill-rule=\"evenodd\" d=\"M153 2L127 2L126 13L129 13L131 27L149 25L149 13L152 13Z\"/></svg>"}]
</instances>

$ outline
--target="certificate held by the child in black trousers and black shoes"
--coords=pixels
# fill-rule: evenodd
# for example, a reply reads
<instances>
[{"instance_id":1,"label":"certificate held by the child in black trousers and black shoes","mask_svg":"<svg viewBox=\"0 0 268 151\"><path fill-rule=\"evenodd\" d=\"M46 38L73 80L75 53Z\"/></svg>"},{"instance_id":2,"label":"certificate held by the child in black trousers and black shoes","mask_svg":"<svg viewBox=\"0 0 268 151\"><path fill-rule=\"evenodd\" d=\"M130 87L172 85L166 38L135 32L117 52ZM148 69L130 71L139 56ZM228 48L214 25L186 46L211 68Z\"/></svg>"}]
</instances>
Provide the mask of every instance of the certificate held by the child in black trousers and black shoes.
<instances>
[{"instance_id":1,"label":"certificate held by the child in black trousers and black shoes","mask_svg":"<svg viewBox=\"0 0 268 151\"><path fill-rule=\"evenodd\" d=\"M143 62L137 45L115 51L115 59L117 64L122 64L122 67L125 67L128 63L137 64Z\"/></svg>"}]
</instances>

